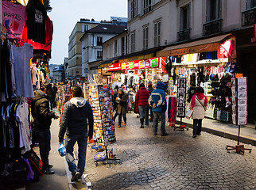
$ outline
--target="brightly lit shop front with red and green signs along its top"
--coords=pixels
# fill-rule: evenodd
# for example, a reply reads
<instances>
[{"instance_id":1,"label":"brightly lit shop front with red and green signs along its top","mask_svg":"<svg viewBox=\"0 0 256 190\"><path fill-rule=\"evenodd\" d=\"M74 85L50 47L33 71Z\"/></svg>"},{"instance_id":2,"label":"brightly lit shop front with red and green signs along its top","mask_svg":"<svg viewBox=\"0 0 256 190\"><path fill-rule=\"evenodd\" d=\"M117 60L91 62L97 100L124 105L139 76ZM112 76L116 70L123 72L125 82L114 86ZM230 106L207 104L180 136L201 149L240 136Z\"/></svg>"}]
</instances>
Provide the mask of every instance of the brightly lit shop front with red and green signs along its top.
<instances>
[{"instance_id":1,"label":"brightly lit shop front with red and green signs along its top","mask_svg":"<svg viewBox=\"0 0 256 190\"><path fill-rule=\"evenodd\" d=\"M168 82L168 74L165 70L166 57L154 57L150 59L135 60L126 63L113 63L107 68L111 72L111 83L121 82L128 88L138 91L140 83L152 82L153 86L158 81Z\"/></svg>"}]
</instances>

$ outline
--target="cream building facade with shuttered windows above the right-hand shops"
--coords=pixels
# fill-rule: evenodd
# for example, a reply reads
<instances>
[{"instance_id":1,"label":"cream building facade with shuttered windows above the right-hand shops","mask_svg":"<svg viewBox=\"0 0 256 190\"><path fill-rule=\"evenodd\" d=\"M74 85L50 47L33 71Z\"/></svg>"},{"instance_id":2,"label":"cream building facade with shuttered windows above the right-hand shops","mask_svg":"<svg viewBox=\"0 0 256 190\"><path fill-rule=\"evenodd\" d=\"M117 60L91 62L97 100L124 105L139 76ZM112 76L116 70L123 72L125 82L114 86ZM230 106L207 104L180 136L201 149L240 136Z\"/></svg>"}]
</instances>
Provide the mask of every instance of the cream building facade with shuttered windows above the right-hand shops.
<instances>
[{"instance_id":1,"label":"cream building facade with shuttered windows above the right-hand shops","mask_svg":"<svg viewBox=\"0 0 256 190\"><path fill-rule=\"evenodd\" d=\"M255 15L255 0L128 0L128 53L166 47L157 56L169 56L170 50L188 51L192 45L203 47L211 40L220 42L222 36L235 36L232 58L248 78L248 118L254 122Z\"/></svg>"}]
</instances>

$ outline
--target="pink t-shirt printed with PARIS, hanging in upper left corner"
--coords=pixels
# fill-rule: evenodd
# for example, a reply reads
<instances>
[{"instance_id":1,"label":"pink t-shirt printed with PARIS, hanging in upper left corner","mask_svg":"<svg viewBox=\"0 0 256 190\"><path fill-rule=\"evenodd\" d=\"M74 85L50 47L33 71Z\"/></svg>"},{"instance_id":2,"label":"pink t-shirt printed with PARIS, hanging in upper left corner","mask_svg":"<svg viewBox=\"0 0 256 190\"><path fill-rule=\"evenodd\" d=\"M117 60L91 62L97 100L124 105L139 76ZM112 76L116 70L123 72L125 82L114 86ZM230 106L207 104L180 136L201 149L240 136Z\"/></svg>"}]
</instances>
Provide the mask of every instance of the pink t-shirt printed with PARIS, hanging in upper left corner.
<instances>
[{"instance_id":1,"label":"pink t-shirt printed with PARIS, hanging in upper left corner","mask_svg":"<svg viewBox=\"0 0 256 190\"><path fill-rule=\"evenodd\" d=\"M21 38L27 13L25 6L17 5L12 2L2 2L2 25L7 29L8 38Z\"/></svg>"}]
</instances>

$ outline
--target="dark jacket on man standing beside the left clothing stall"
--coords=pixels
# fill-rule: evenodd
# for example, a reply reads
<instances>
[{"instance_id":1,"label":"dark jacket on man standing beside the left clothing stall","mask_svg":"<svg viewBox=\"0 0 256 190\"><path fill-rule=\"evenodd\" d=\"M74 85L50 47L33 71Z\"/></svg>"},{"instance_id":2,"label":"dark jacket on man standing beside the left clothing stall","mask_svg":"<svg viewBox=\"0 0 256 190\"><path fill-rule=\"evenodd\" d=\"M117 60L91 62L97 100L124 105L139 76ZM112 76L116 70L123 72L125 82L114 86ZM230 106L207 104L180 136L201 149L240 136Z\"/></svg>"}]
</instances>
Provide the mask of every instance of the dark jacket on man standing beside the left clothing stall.
<instances>
[{"instance_id":1,"label":"dark jacket on man standing beside the left clothing stall","mask_svg":"<svg viewBox=\"0 0 256 190\"><path fill-rule=\"evenodd\" d=\"M41 90L35 91L31 99L31 114L35 129L49 129L52 124L54 112L50 112L48 96Z\"/></svg>"}]
</instances>

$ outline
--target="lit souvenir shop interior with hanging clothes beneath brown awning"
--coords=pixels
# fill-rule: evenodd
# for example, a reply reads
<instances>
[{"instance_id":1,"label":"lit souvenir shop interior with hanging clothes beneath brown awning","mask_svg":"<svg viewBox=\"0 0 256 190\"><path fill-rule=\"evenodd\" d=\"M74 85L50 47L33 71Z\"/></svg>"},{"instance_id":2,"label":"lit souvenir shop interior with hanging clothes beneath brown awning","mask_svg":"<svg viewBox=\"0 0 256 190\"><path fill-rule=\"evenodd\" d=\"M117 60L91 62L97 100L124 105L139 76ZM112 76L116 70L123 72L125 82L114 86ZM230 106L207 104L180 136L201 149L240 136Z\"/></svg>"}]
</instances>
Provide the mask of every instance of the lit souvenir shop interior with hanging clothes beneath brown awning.
<instances>
[{"instance_id":1,"label":"lit souvenir shop interior with hanging clothes beneath brown awning","mask_svg":"<svg viewBox=\"0 0 256 190\"><path fill-rule=\"evenodd\" d=\"M196 50L193 47L169 51L169 92L171 97L177 97L176 116L184 116L196 86L201 86L209 102L205 116L231 123L231 78L238 67L235 36L228 35L217 44L211 48L204 46L200 53L190 53ZM182 85L178 84L180 79Z\"/></svg>"}]
</instances>

